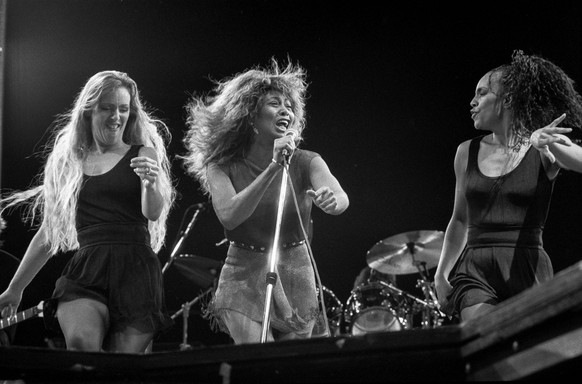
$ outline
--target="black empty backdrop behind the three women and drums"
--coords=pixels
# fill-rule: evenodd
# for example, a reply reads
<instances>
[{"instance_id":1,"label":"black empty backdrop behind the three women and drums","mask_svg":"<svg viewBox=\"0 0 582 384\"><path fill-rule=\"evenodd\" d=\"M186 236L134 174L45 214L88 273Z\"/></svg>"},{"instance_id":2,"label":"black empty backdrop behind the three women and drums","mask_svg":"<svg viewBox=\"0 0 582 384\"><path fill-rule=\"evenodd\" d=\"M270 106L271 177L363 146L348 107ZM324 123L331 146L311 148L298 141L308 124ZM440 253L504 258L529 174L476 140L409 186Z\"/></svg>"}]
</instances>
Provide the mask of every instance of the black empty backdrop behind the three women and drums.
<instances>
[{"instance_id":1,"label":"black empty backdrop behind the three women and drums","mask_svg":"<svg viewBox=\"0 0 582 384\"><path fill-rule=\"evenodd\" d=\"M174 157L183 153L183 106L193 93L271 57L308 73L306 141L350 197L341 216L314 212L313 251L322 283L345 303L366 252L387 237L444 231L453 205L456 147L479 134L469 116L475 85L514 49L540 54L581 81L581 6L577 1L448 2L8 0L1 186L25 189L42 164L48 127L94 73L127 72L170 127L168 152L181 194L165 263L186 209L206 201ZM580 90L580 88L578 88ZM544 242L559 271L580 259L582 177L562 172ZM3 249L21 258L34 231L6 217ZM180 253L222 260L221 227L200 214ZM68 255L49 261L25 292L23 307L50 296ZM434 272L434 269L431 270ZM431 273L432 274L432 273ZM166 272L172 313L205 287L174 267ZM418 276L399 286L421 296ZM45 345L35 320L17 343ZM34 327L34 329L32 329ZM163 341L181 341L182 322ZM228 342L195 305L189 341Z\"/></svg>"}]
</instances>

